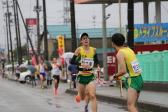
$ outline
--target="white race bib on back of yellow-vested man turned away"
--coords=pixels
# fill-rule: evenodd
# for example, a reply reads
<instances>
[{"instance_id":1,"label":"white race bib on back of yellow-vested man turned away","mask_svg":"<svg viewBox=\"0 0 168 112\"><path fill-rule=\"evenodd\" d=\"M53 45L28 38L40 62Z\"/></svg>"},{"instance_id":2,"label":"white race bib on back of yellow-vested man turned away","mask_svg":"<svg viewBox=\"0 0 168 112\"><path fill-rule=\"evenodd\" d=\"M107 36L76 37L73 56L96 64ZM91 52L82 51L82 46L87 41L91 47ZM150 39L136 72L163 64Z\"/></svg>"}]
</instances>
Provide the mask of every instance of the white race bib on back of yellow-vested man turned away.
<instances>
[{"instance_id":1,"label":"white race bib on back of yellow-vested man turned away","mask_svg":"<svg viewBox=\"0 0 168 112\"><path fill-rule=\"evenodd\" d=\"M142 72L142 69L141 69L141 67L139 65L138 60L132 61L131 62L131 66L132 66L132 69L134 71L134 74L138 74L138 73Z\"/></svg>"}]
</instances>

